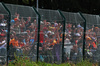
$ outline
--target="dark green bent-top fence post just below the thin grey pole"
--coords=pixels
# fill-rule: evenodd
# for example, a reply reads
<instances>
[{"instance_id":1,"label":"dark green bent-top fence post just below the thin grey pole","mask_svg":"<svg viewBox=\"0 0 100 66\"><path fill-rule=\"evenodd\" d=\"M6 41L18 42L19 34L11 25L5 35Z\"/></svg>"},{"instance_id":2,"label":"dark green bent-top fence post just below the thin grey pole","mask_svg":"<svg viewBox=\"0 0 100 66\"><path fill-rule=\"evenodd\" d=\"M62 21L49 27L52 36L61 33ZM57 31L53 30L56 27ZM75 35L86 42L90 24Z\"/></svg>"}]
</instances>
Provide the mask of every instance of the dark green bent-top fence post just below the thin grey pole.
<instances>
[{"instance_id":1,"label":"dark green bent-top fence post just below the thin grey pole","mask_svg":"<svg viewBox=\"0 0 100 66\"><path fill-rule=\"evenodd\" d=\"M41 16L38 13L38 11L33 7L33 9L35 10L37 16L38 16L38 37L37 37L37 62L38 62L38 58L39 58L39 44L40 44L40 20L41 20Z\"/></svg>"}]
</instances>

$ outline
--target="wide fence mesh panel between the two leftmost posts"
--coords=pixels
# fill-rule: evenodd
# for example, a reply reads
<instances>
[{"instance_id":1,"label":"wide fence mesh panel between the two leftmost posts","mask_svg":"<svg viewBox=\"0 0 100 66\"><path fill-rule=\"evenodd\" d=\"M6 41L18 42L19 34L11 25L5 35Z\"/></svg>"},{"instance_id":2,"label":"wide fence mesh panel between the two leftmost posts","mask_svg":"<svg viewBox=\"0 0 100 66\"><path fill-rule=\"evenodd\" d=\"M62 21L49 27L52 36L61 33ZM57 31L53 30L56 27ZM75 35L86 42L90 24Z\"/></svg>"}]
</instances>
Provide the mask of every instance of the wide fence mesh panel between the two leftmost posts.
<instances>
[{"instance_id":1,"label":"wide fence mesh panel between the two leftmost posts","mask_svg":"<svg viewBox=\"0 0 100 66\"><path fill-rule=\"evenodd\" d=\"M16 56L37 57L37 14L32 7L5 4L11 12L9 60ZM14 55L15 54L15 55Z\"/></svg>"}]
</instances>

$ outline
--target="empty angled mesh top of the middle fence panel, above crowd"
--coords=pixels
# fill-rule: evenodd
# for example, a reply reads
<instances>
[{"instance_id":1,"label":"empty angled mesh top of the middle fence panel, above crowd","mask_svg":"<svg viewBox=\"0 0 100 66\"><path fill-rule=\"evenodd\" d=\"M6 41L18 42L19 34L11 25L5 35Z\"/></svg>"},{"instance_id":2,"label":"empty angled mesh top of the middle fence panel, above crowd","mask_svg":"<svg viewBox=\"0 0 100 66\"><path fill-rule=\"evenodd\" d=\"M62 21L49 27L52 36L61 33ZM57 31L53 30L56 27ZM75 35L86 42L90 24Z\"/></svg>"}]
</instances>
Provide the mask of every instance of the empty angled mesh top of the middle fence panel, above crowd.
<instances>
[{"instance_id":1,"label":"empty angled mesh top of the middle fence panel, above crowd","mask_svg":"<svg viewBox=\"0 0 100 66\"><path fill-rule=\"evenodd\" d=\"M62 16L58 10L48 10L48 9L38 9L39 14L41 15L41 20L47 20L50 22L54 21L63 21Z\"/></svg>"}]
</instances>

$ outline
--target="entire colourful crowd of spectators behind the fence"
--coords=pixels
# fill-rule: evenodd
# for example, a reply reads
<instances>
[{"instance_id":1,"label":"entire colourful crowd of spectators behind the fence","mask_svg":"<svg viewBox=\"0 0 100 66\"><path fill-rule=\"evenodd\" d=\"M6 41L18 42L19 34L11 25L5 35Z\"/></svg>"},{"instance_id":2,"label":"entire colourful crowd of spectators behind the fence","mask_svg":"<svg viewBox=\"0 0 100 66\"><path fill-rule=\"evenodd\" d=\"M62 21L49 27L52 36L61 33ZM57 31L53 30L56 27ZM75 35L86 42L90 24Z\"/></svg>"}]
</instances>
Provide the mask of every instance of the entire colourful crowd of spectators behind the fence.
<instances>
[{"instance_id":1,"label":"entire colourful crowd of spectators behind the fence","mask_svg":"<svg viewBox=\"0 0 100 66\"><path fill-rule=\"evenodd\" d=\"M9 55L33 56L36 58L38 24L32 17L20 17L15 13L10 25ZM82 23L83 24L83 23ZM64 61L82 59L84 26L76 23L66 23L64 36ZM0 56L6 52L7 45L7 20L0 15ZM88 26L87 26L88 27ZM86 30L85 50L88 58L94 58L100 43L100 28L92 25ZM61 62L62 58L63 23L40 21L39 59L45 62ZM3 50L2 50L3 49ZM6 55L6 53L5 53Z\"/></svg>"}]
</instances>

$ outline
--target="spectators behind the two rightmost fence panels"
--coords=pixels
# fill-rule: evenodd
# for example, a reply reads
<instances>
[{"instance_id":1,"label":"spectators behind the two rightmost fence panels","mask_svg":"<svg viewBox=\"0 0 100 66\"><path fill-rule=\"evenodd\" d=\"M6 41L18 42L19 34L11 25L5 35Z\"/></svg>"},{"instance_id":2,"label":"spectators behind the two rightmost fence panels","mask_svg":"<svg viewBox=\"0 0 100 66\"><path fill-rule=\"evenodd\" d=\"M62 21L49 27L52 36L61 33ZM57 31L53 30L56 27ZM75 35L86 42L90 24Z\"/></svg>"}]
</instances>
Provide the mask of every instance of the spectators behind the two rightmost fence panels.
<instances>
[{"instance_id":1,"label":"spectators behind the two rightmost fence panels","mask_svg":"<svg viewBox=\"0 0 100 66\"><path fill-rule=\"evenodd\" d=\"M65 45L70 44L70 46L65 46L65 56L67 60L79 61L82 60L83 56L83 38L84 38L84 28L81 24L71 24L66 26L66 33L69 35L65 39ZM72 25L72 26L71 26ZM100 60L100 28L97 25L87 24L85 33L85 57L91 59L92 61ZM68 42L66 42L68 41ZM66 55L67 54L67 55Z\"/></svg>"}]
</instances>

